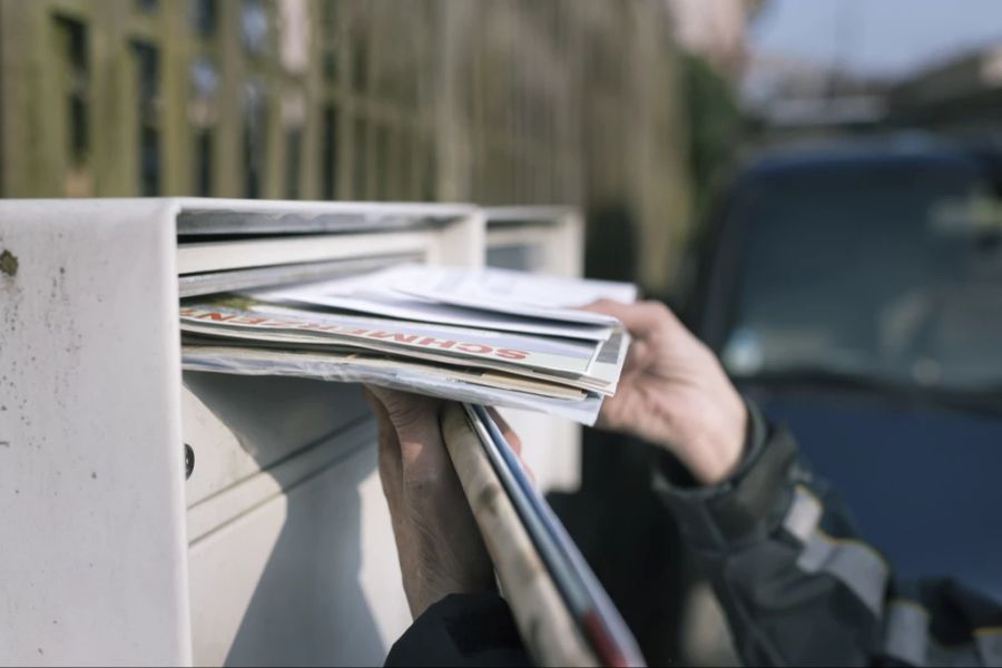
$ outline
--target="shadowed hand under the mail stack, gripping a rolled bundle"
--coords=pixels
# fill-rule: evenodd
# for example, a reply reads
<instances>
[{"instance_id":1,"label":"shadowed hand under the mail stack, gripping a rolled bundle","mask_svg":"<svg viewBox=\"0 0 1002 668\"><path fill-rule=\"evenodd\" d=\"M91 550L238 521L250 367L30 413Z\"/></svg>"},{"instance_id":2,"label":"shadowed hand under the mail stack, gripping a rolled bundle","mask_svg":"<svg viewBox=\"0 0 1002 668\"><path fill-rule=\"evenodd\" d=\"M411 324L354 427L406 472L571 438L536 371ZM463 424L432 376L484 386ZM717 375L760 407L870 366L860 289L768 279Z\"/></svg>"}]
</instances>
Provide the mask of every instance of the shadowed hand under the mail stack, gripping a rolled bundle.
<instances>
[{"instance_id":1,"label":"shadowed hand under the mail stack, gripping a rolled bundle","mask_svg":"<svg viewBox=\"0 0 1002 668\"><path fill-rule=\"evenodd\" d=\"M492 591L494 568L442 439L443 402L364 392L379 423L380 480L411 613L450 593Z\"/></svg>"}]
</instances>

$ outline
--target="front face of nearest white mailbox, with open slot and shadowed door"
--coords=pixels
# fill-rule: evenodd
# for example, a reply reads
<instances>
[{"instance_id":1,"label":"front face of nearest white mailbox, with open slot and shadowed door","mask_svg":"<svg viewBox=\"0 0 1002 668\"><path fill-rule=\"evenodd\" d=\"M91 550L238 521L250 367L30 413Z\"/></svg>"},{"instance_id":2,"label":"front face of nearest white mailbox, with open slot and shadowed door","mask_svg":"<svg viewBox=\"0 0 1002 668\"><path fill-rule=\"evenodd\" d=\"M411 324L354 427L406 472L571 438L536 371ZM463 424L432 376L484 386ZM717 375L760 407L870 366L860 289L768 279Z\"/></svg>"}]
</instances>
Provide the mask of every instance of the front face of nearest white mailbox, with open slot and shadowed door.
<instances>
[{"instance_id":1,"label":"front face of nearest white mailbox, with open slot and shadowed door","mask_svg":"<svg viewBox=\"0 0 1002 668\"><path fill-rule=\"evenodd\" d=\"M190 200L181 297L401 262L477 265L464 206ZM196 664L372 664L410 623L355 384L185 372Z\"/></svg>"}]
</instances>

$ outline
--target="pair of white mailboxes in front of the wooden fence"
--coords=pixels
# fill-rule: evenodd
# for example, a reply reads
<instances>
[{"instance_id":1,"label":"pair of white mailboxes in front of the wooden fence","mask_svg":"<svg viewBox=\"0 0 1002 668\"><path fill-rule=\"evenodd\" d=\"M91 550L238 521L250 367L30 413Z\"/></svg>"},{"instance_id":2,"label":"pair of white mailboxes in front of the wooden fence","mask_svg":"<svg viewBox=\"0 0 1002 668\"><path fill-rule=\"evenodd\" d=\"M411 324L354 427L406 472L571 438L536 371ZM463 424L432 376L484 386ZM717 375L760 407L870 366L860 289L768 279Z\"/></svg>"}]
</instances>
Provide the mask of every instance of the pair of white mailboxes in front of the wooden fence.
<instances>
[{"instance_id":1,"label":"pair of white mailboxes in front of the wooden fence","mask_svg":"<svg viewBox=\"0 0 1002 668\"><path fill-rule=\"evenodd\" d=\"M491 248L579 273L548 220ZM357 386L183 374L178 298L485 248L470 206L0 202L0 662L382 662L410 613ZM576 484L539 420L527 456Z\"/></svg>"}]
</instances>

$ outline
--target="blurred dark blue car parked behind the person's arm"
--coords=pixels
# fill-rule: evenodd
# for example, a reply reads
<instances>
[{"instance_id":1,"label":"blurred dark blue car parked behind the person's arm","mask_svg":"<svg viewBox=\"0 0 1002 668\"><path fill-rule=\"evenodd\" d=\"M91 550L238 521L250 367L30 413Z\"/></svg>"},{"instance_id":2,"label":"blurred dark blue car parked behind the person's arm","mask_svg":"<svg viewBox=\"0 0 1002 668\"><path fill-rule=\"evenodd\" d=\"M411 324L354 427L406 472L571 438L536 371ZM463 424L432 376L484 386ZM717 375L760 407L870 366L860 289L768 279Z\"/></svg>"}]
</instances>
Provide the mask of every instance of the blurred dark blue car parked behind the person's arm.
<instances>
[{"instance_id":1,"label":"blurred dark blue car parked behind the person's arm","mask_svg":"<svg viewBox=\"0 0 1002 668\"><path fill-rule=\"evenodd\" d=\"M709 228L695 303L900 574L1002 600L1000 185L985 146L764 154Z\"/></svg>"}]
</instances>

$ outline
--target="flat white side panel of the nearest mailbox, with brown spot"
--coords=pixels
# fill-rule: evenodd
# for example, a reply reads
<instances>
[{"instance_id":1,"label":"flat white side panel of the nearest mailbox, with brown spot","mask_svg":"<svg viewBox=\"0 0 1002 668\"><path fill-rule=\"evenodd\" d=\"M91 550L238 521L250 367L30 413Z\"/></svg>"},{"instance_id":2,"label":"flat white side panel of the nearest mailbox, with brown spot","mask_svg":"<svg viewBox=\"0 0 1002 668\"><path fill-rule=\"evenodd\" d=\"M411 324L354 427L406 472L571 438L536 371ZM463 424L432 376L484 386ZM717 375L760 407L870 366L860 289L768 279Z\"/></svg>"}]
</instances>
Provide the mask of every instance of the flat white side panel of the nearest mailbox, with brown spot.
<instances>
[{"instance_id":1,"label":"flat white side panel of the nearest mailbox, with brown spot","mask_svg":"<svg viewBox=\"0 0 1002 668\"><path fill-rule=\"evenodd\" d=\"M0 202L0 664L191 660L175 210Z\"/></svg>"}]
</instances>

